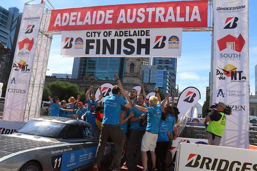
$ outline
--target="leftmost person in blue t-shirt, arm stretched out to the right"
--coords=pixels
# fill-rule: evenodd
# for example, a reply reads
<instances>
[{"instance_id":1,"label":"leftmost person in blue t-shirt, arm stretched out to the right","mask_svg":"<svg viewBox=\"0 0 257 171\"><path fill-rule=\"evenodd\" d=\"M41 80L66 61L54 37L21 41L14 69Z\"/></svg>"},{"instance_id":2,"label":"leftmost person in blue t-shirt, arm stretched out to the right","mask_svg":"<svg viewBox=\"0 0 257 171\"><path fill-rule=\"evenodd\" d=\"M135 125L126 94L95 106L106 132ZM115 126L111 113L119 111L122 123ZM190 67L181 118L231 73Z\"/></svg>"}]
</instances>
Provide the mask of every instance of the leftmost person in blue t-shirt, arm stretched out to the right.
<instances>
[{"instance_id":1,"label":"leftmost person in blue t-shirt, arm stretched out to the right","mask_svg":"<svg viewBox=\"0 0 257 171\"><path fill-rule=\"evenodd\" d=\"M51 113L50 113L50 116L59 116L59 112L60 112L60 109L59 108L66 108L67 106L69 105L73 105L74 102L72 103L68 103L68 104L64 104L64 105L60 105L59 104L59 97L58 96L55 96L53 98L53 101L52 101L52 98L51 96L48 96L49 100L50 100L50 109L51 109Z\"/></svg>"}]
</instances>

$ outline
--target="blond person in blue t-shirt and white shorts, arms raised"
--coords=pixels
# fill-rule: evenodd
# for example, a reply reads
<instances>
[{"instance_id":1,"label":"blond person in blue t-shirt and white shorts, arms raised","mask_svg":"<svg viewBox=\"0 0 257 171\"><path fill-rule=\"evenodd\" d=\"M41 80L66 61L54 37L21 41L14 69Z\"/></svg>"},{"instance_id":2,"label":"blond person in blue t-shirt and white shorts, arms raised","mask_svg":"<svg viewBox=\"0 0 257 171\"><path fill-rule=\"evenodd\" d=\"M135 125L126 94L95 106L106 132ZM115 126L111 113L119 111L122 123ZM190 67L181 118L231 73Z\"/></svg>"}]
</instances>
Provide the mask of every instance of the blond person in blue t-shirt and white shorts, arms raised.
<instances>
[{"instance_id":1,"label":"blond person in blue t-shirt and white shorts, arms raised","mask_svg":"<svg viewBox=\"0 0 257 171\"><path fill-rule=\"evenodd\" d=\"M147 170L147 151L150 150L151 154L151 160L152 160L152 170L153 171L158 171L155 167L156 164L156 155L155 155L155 147L156 147L156 142L158 138L158 125L160 123L160 118L161 118L161 112L162 112L162 106L161 106L161 97L158 92L158 87L155 87L155 93L157 97L151 96L149 98L149 106L143 108L141 106L135 105L133 101L131 101L132 106L135 106L136 109L143 111L143 112L148 112L147 114L147 126L146 126L146 132L143 136L142 139L142 144L141 144L141 154L142 154L142 164L143 164L143 171Z\"/></svg>"}]
</instances>

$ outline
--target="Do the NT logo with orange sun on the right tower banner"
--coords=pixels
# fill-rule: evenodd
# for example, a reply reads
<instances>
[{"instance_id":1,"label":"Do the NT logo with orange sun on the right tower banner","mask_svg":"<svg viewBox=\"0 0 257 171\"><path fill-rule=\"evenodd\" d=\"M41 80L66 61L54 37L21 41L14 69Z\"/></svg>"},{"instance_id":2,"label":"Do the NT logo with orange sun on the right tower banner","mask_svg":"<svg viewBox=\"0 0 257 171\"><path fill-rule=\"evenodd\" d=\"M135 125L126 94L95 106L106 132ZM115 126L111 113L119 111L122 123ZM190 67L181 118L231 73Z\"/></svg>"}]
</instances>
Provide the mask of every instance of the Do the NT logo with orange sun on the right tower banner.
<instances>
[{"instance_id":1,"label":"Do the NT logo with orange sun on the right tower banner","mask_svg":"<svg viewBox=\"0 0 257 171\"><path fill-rule=\"evenodd\" d=\"M246 82L246 77L242 75L243 71L237 70L236 66L227 64L224 68L219 66L218 68L216 69L216 76L219 80L226 80L226 78L230 77L231 82Z\"/></svg>"}]
</instances>

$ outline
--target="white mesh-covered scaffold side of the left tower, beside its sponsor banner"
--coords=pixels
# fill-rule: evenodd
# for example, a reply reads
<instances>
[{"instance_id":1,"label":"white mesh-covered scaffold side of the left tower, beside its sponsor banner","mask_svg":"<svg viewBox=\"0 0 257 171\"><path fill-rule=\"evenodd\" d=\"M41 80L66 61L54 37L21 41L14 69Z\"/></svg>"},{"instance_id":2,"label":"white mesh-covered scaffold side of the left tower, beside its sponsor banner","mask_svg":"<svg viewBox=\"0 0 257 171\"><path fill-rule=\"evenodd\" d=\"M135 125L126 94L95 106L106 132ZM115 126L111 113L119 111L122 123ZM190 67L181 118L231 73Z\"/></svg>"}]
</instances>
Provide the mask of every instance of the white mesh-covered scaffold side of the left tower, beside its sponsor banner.
<instances>
[{"instance_id":1,"label":"white mesh-covered scaffold side of the left tower, beside its sponsor banner","mask_svg":"<svg viewBox=\"0 0 257 171\"><path fill-rule=\"evenodd\" d=\"M49 26L50 11L44 10L41 28L38 34L38 41L31 70L30 84L27 93L27 101L23 119L28 121L40 116L41 101L44 90L47 63L49 59L52 34L47 33Z\"/></svg>"}]
</instances>

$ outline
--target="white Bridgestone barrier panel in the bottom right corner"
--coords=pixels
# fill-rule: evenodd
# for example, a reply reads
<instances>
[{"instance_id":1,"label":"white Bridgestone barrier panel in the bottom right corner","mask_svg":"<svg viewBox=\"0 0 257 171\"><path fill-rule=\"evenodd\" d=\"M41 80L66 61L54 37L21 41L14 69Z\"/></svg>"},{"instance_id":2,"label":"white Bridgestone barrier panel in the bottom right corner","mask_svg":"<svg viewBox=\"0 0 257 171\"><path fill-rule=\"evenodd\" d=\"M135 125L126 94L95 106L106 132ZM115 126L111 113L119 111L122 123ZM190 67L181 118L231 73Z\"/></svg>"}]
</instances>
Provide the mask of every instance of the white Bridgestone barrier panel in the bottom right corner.
<instances>
[{"instance_id":1,"label":"white Bridgestone barrier panel in the bottom right corner","mask_svg":"<svg viewBox=\"0 0 257 171\"><path fill-rule=\"evenodd\" d=\"M241 171L257 170L256 150L180 143L176 171Z\"/></svg>"}]
</instances>

